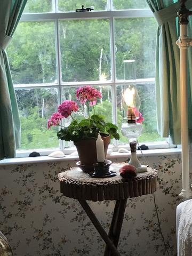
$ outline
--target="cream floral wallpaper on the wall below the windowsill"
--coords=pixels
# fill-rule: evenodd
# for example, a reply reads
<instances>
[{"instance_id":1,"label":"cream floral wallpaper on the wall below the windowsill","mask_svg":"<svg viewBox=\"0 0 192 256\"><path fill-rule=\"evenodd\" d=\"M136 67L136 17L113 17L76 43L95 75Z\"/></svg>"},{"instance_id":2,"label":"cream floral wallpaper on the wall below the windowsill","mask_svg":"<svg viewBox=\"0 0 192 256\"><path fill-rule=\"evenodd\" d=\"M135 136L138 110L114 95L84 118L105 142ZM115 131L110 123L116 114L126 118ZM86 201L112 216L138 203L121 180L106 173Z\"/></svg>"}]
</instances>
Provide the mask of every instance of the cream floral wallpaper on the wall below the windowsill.
<instances>
[{"instance_id":1,"label":"cream floral wallpaper on the wall below the windowsill","mask_svg":"<svg viewBox=\"0 0 192 256\"><path fill-rule=\"evenodd\" d=\"M180 155L147 157L158 169L155 201L169 254L177 255L175 215L181 202ZM123 162L126 159L113 159ZM103 255L105 243L74 199L62 196L57 174L75 161L0 166L0 227L14 256ZM91 202L102 226L109 228L114 201ZM165 253L154 195L128 199L118 250L121 255Z\"/></svg>"}]
</instances>

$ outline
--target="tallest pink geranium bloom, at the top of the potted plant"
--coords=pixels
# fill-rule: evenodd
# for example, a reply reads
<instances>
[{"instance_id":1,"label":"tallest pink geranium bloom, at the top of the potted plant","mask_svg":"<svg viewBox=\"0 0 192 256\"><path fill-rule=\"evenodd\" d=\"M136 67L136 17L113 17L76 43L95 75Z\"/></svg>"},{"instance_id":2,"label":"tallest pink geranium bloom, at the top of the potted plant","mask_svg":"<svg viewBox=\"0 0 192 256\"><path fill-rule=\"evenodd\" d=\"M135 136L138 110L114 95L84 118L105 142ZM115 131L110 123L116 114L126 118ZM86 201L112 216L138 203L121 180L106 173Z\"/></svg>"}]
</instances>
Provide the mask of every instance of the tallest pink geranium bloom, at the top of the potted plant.
<instances>
[{"instance_id":1,"label":"tallest pink geranium bloom, at the top of the potted plant","mask_svg":"<svg viewBox=\"0 0 192 256\"><path fill-rule=\"evenodd\" d=\"M90 85L84 85L79 87L76 91L77 100L81 103L90 101L90 105L94 106L98 98L102 98L102 94L97 90L91 87Z\"/></svg>"}]
</instances>

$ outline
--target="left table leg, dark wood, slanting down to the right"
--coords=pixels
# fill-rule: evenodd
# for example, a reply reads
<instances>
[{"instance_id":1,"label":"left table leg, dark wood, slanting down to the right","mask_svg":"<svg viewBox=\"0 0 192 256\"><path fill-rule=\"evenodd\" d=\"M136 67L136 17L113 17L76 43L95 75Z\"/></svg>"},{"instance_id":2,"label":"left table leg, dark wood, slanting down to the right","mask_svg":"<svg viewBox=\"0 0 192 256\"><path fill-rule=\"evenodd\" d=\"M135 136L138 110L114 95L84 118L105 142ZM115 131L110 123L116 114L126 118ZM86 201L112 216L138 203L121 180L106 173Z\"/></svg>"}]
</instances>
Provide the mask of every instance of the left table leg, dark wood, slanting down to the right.
<instances>
[{"instance_id":1,"label":"left table leg, dark wood, slanting down to the right","mask_svg":"<svg viewBox=\"0 0 192 256\"><path fill-rule=\"evenodd\" d=\"M85 200L78 199L79 203L83 207L84 211L86 212L87 216L90 218L91 222L93 223L94 227L98 230L99 234L109 247L111 253L113 253L114 256L121 256L120 253L117 251L117 248L115 247L114 243L111 241L109 236L107 235L105 229L101 226L98 219L95 217L95 214L91 210L89 204Z\"/></svg>"}]
</instances>

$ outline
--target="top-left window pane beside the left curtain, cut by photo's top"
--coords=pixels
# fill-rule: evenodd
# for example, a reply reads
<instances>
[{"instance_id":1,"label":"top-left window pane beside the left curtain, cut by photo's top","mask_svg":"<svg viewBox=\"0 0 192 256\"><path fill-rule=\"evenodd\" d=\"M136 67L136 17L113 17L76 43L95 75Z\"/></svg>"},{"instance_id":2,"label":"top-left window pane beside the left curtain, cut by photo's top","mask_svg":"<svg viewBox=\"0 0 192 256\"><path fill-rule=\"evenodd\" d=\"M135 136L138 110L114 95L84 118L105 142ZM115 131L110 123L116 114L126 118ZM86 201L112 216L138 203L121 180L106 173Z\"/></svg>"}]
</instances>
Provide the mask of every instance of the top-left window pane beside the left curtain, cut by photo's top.
<instances>
[{"instance_id":1,"label":"top-left window pane beside the left curtain, cut by photo's top","mask_svg":"<svg viewBox=\"0 0 192 256\"><path fill-rule=\"evenodd\" d=\"M28 0L23 13L52 12L52 0Z\"/></svg>"}]
</instances>

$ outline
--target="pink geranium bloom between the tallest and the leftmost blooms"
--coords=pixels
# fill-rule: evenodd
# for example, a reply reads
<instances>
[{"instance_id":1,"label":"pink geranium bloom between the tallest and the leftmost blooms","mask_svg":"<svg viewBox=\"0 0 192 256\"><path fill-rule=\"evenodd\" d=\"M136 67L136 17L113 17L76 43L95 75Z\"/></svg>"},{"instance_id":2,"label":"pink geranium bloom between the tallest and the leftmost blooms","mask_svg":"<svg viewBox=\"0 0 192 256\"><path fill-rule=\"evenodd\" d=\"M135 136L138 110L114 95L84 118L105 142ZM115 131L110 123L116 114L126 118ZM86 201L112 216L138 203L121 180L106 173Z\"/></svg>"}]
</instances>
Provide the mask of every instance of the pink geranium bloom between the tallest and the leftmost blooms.
<instances>
[{"instance_id":1,"label":"pink geranium bloom between the tallest and the leftmost blooms","mask_svg":"<svg viewBox=\"0 0 192 256\"><path fill-rule=\"evenodd\" d=\"M66 117L66 118L70 116L73 111L76 112L77 110L78 110L78 105L73 100L65 100L58 107L59 114L61 114L62 117Z\"/></svg>"}]
</instances>

